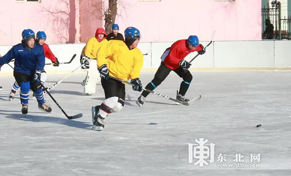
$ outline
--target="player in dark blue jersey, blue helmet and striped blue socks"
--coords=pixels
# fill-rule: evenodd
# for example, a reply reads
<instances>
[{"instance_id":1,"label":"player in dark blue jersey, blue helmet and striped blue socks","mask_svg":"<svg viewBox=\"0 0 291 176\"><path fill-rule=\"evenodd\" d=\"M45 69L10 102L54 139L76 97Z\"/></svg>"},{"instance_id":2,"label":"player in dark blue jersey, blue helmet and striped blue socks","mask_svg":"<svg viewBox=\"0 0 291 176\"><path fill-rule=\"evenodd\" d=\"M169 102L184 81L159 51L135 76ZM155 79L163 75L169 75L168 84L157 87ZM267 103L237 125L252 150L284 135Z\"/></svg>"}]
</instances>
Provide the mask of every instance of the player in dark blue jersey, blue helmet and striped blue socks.
<instances>
[{"instance_id":1,"label":"player in dark blue jersey, blue helmet and striped blue socks","mask_svg":"<svg viewBox=\"0 0 291 176\"><path fill-rule=\"evenodd\" d=\"M20 101L22 104L22 114L28 113L28 97L31 88L38 102L38 108L51 112L51 107L45 102L40 85L41 71L45 67L44 49L35 43L35 34L31 29L22 32L21 43L15 45L0 58L0 67L8 64L12 59L14 62L14 72L16 82L20 86Z\"/></svg>"}]
</instances>

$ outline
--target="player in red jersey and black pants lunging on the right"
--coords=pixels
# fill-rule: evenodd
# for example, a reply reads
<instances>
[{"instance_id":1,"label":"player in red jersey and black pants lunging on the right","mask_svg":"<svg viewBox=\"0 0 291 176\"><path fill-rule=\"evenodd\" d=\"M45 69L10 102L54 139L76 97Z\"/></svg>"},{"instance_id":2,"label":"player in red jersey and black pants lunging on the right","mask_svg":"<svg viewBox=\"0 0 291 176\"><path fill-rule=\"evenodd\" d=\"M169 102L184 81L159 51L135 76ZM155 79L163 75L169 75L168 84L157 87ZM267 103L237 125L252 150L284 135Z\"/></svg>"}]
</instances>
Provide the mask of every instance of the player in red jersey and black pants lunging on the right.
<instances>
[{"instance_id":1,"label":"player in red jersey and black pants lunging on the right","mask_svg":"<svg viewBox=\"0 0 291 176\"><path fill-rule=\"evenodd\" d=\"M176 99L188 102L189 99L185 98L185 94L192 81L192 74L188 70L191 64L184 58L192 52L198 52L199 54L206 52L203 45L199 44L199 39L196 35L190 35L188 39L178 40L170 48L167 48L162 54L161 66L157 70L154 79L146 85L146 89L154 90L157 88L173 70L183 79L179 91L177 90ZM136 104L142 106L148 94L149 92L144 90L142 95L138 97Z\"/></svg>"}]
</instances>

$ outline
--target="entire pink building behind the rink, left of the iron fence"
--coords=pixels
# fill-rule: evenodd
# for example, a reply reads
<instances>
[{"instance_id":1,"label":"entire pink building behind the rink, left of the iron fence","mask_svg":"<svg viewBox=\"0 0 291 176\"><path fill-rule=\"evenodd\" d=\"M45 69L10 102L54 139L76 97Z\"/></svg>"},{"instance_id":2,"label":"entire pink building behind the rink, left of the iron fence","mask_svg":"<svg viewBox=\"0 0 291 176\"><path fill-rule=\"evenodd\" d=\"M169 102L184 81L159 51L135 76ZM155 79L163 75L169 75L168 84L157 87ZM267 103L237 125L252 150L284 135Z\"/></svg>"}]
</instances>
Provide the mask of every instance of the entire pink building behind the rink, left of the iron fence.
<instances>
[{"instance_id":1,"label":"entire pink building behind the rink, left of the iron fence","mask_svg":"<svg viewBox=\"0 0 291 176\"><path fill-rule=\"evenodd\" d=\"M30 2L36 1L36 2ZM0 45L15 45L23 29L45 31L47 43L86 42L104 27L97 9L106 0L1 0ZM261 0L119 0L120 33L137 27L142 42L261 40Z\"/></svg>"}]
</instances>

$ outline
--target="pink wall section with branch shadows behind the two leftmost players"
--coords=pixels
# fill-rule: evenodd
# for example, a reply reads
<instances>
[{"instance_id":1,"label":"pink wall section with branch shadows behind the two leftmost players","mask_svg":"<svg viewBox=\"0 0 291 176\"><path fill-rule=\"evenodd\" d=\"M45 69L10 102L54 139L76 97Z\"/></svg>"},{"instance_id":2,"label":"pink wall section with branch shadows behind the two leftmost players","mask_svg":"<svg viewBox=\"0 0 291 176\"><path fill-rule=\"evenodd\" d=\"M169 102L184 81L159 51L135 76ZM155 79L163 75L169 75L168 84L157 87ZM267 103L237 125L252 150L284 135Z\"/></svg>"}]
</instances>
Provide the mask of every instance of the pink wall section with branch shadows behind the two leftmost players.
<instances>
[{"instance_id":1,"label":"pink wall section with branch shadows behind the two leftmost players","mask_svg":"<svg viewBox=\"0 0 291 176\"><path fill-rule=\"evenodd\" d=\"M0 45L20 43L21 32L28 28L45 31L47 43L79 42L79 0L1 0L0 19Z\"/></svg>"}]
</instances>

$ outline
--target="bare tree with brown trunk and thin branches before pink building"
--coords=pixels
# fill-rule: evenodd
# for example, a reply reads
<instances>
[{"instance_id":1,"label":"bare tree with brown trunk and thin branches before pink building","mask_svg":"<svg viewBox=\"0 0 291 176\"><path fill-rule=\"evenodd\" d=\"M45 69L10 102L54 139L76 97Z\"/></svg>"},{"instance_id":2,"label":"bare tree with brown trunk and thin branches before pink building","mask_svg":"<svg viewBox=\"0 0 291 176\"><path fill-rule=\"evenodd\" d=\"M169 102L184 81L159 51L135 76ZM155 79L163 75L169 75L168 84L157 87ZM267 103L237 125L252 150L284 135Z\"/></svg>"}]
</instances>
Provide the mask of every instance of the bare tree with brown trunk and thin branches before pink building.
<instances>
[{"instance_id":1,"label":"bare tree with brown trunk and thin branches before pink building","mask_svg":"<svg viewBox=\"0 0 291 176\"><path fill-rule=\"evenodd\" d=\"M97 0L98 1L98 0ZM104 0L103 3L97 3L96 0L92 0L91 14L97 18L105 21L105 31L107 34L111 33L111 26L115 23L115 18L122 17L121 12L126 11L126 4L123 0ZM118 9L119 13L118 13Z\"/></svg>"}]
</instances>

